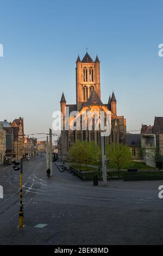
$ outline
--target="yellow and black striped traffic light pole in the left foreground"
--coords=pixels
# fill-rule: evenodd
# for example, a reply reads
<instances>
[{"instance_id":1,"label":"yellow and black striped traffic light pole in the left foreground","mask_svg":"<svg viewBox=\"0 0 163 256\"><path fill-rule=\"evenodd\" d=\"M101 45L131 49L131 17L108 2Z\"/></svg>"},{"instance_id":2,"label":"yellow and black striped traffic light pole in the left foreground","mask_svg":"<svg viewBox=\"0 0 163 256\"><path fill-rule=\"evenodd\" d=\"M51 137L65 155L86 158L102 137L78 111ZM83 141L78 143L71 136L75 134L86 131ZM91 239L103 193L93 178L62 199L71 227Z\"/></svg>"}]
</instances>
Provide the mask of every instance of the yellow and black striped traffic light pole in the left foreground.
<instances>
[{"instance_id":1,"label":"yellow and black striped traffic light pole in the left foreground","mask_svg":"<svg viewBox=\"0 0 163 256\"><path fill-rule=\"evenodd\" d=\"M23 191L22 191L22 186L23 186L23 159L21 159L21 167L20 167L20 210L19 210L19 223L18 226L20 228L23 228Z\"/></svg>"}]
</instances>

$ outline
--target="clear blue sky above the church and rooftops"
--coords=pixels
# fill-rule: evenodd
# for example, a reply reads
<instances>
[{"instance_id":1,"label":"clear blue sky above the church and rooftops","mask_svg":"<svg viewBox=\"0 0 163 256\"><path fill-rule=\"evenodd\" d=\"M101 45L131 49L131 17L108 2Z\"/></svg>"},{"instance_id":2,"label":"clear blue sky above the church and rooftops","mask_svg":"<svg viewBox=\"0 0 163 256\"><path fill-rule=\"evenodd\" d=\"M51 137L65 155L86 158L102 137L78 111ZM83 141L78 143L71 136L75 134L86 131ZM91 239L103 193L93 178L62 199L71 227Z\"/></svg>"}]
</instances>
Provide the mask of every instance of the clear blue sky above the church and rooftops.
<instances>
[{"instance_id":1,"label":"clear blue sky above the church and rooftops","mask_svg":"<svg viewBox=\"0 0 163 256\"><path fill-rule=\"evenodd\" d=\"M114 90L127 130L162 116L162 1L0 0L0 118L24 117L26 133L47 132L52 113L76 103L75 67L89 48L101 61L102 101Z\"/></svg>"}]
</instances>

